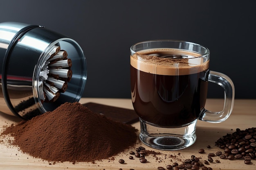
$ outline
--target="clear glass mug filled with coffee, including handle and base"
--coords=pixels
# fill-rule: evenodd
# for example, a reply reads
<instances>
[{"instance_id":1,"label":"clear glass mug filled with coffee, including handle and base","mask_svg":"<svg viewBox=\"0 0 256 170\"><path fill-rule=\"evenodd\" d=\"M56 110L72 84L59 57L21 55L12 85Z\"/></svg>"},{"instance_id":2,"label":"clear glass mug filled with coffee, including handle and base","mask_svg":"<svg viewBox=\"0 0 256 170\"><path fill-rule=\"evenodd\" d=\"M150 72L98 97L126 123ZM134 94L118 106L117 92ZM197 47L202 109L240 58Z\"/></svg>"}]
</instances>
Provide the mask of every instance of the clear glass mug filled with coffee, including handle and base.
<instances>
[{"instance_id":1,"label":"clear glass mug filled with coffee, including handle and base","mask_svg":"<svg viewBox=\"0 0 256 170\"><path fill-rule=\"evenodd\" d=\"M178 40L153 40L130 47L132 105L139 116L141 141L160 150L179 150L195 140L197 120L226 120L234 106L234 84L209 70L208 48ZM224 108L204 109L208 82L225 91Z\"/></svg>"}]
</instances>

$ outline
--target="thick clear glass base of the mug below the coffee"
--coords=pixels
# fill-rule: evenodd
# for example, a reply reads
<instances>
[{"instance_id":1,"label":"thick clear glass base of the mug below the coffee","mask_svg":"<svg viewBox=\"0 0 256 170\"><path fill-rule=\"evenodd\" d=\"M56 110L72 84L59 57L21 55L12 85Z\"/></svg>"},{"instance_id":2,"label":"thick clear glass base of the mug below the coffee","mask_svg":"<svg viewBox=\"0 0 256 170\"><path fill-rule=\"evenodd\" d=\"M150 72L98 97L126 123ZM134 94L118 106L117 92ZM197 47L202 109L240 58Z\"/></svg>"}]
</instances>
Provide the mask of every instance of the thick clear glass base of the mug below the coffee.
<instances>
[{"instance_id":1,"label":"thick clear glass base of the mug below the coffee","mask_svg":"<svg viewBox=\"0 0 256 170\"><path fill-rule=\"evenodd\" d=\"M195 140L197 120L182 127L159 127L140 119L141 142L159 150L180 150L191 146Z\"/></svg>"}]
</instances>

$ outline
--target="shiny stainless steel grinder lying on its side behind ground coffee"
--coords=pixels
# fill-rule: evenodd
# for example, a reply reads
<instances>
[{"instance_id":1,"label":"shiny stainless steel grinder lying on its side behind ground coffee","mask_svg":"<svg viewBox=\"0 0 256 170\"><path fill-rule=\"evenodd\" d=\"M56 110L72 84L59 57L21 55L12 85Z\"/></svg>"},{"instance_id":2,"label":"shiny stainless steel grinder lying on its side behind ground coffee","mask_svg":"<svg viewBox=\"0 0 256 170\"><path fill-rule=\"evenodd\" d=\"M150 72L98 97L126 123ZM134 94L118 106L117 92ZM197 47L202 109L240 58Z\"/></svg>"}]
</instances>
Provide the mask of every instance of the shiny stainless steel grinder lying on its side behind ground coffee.
<instances>
[{"instance_id":1,"label":"shiny stainless steel grinder lying on its side behind ground coffee","mask_svg":"<svg viewBox=\"0 0 256 170\"><path fill-rule=\"evenodd\" d=\"M44 26L0 23L0 112L29 120L79 101L87 78L79 44Z\"/></svg>"}]
</instances>

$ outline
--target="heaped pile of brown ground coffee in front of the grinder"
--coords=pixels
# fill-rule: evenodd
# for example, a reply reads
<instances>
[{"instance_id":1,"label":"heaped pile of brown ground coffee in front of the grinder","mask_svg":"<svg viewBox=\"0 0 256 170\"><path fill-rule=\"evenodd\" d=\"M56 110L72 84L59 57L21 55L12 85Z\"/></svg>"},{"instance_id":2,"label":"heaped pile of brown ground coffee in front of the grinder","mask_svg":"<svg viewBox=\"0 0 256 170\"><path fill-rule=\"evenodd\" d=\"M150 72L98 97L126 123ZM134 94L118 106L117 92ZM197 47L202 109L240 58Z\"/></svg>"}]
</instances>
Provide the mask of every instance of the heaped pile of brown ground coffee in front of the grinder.
<instances>
[{"instance_id":1,"label":"heaped pile of brown ground coffee in front of the grinder","mask_svg":"<svg viewBox=\"0 0 256 170\"><path fill-rule=\"evenodd\" d=\"M136 129L93 113L78 102L61 105L2 132L24 153L47 161L107 159L136 143Z\"/></svg>"}]
</instances>

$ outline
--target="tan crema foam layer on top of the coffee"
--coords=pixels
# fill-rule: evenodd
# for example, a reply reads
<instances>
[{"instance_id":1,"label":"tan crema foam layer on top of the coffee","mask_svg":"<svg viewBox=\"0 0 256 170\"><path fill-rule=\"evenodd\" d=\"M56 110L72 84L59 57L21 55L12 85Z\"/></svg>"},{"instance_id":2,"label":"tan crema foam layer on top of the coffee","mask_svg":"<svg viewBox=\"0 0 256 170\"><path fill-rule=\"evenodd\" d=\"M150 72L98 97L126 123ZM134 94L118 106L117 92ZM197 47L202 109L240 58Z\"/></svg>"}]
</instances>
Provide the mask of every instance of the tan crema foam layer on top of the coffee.
<instances>
[{"instance_id":1,"label":"tan crema foam layer on top of the coffee","mask_svg":"<svg viewBox=\"0 0 256 170\"><path fill-rule=\"evenodd\" d=\"M174 56L174 57L166 57ZM178 56L175 58L175 56ZM206 71L209 60L200 54L173 48L141 50L130 56L130 65L137 70L159 75L188 75Z\"/></svg>"}]
</instances>

